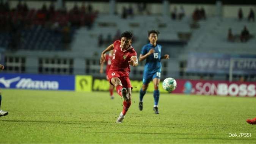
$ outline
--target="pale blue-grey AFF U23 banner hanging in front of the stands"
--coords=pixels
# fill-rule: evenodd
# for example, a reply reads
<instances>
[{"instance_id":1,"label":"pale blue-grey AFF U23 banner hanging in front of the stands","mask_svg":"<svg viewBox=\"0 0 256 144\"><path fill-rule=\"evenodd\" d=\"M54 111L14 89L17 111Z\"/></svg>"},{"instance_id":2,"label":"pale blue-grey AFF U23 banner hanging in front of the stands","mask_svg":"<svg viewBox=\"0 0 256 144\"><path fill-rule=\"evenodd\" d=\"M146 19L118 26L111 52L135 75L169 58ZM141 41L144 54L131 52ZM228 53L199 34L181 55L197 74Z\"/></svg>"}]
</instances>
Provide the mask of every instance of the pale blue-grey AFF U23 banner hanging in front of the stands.
<instances>
[{"instance_id":1,"label":"pale blue-grey AFF U23 banner hanging in front of the stands","mask_svg":"<svg viewBox=\"0 0 256 144\"><path fill-rule=\"evenodd\" d=\"M227 74L233 63L234 74L256 74L256 55L190 53L186 72Z\"/></svg>"}]
</instances>

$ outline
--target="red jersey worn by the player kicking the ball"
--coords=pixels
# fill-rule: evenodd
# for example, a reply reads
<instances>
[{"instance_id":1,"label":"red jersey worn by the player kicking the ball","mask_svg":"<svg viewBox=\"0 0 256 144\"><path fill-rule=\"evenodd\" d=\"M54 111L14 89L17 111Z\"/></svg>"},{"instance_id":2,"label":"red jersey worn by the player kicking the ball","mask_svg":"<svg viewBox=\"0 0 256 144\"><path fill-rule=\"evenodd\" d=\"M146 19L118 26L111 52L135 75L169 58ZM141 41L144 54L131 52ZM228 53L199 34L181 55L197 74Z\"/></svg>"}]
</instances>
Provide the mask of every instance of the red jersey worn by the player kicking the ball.
<instances>
[{"instance_id":1,"label":"red jersey worn by the player kicking the ball","mask_svg":"<svg viewBox=\"0 0 256 144\"><path fill-rule=\"evenodd\" d=\"M110 70L130 72L130 65L128 61L130 61L132 56L137 56L133 47L129 47L127 50L122 51L121 41L115 41Z\"/></svg>"}]
</instances>

